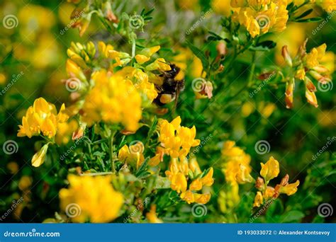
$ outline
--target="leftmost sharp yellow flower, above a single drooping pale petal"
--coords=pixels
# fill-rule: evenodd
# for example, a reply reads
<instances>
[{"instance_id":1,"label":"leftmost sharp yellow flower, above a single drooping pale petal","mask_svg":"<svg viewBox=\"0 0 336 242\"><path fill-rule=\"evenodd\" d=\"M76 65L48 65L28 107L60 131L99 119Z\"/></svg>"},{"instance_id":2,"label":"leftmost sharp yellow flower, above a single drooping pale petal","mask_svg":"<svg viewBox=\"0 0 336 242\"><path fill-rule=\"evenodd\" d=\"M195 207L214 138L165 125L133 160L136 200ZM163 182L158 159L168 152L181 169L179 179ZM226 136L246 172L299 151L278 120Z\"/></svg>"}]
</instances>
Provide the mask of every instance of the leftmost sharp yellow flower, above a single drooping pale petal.
<instances>
[{"instance_id":1,"label":"leftmost sharp yellow flower, above a single drooping pale petal","mask_svg":"<svg viewBox=\"0 0 336 242\"><path fill-rule=\"evenodd\" d=\"M55 137L57 125L66 122L69 117L65 114L65 105L62 104L57 114L55 105L47 103L44 98L38 98L30 106L22 118L22 125L18 125L18 137L42 134L48 138Z\"/></svg>"}]
</instances>

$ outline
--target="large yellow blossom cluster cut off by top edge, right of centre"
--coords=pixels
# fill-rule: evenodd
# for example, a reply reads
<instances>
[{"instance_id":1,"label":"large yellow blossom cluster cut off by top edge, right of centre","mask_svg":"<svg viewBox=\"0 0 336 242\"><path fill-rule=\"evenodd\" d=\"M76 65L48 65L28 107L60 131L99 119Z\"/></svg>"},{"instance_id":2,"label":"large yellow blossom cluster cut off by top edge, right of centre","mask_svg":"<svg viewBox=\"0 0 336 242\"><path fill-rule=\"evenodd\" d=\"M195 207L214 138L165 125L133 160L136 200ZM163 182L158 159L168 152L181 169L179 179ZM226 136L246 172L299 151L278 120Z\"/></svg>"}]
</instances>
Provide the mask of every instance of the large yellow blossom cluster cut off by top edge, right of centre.
<instances>
[{"instance_id":1,"label":"large yellow blossom cluster cut off by top edge, right of centre","mask_svg":"<svg viewBox=\"0 0 336 242\"><path fill-rule=\"evenodd\" d=\"M239 8L233 20L247 28L252 38L268 32L281 32L289 19L287 0L231 0Z\"/></svg>"}]
</instances>

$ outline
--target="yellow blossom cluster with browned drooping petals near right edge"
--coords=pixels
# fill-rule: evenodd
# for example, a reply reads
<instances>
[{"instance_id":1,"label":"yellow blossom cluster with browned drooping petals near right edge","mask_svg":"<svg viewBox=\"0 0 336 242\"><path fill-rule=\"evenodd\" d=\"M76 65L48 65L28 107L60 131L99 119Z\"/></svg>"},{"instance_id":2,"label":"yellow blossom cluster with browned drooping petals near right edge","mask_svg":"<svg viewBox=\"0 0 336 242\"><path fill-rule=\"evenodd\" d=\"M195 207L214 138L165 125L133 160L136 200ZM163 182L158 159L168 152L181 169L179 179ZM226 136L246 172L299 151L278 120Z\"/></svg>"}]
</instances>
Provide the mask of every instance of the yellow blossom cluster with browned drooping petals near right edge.
<instances>
[{"instance_id":1,"label":"yellow blossom cluster with browned drooping petals near right edge","mask_svg":"<svg viewBox=\"0 0 336 242\"><path fill-rule=\"evenodd\" d=\"M333 62L333 64L335 65L335 57L332 55L332 59L330 60L326 58L327 55L325 53L325 50L327 48L327 45L325 44L320 45L319 47L314 47L312 50L310 50L309 53L307 53L306 43L307 40L303 42L303 44L299 47L298 53L293 59L291 58L289 51L287 50L287 46L285 45L282 48L282 55L286 61L286 64L289 65L289 67L292 67L293 72L295 73L295 75L293 77L290 77L290 80L286 83L285 100L287 108L293 107L293 91L295 88L295 79L304 81L306 85L306 98L308 100L308 103L315 106L315 108L318 107L318 100L315 96L317 88L311 80L315 79L316 81L318 81L318 86L320 87L319 89L322 89L321 91L324 91L324 89L328 88L328 86L332 86L331 74L332 71L334 71L334 67L331 67L331 69L327 68L328 63L325 62ZM323 85L325 85L325 87Z\"/></svg>"}]
</instances>

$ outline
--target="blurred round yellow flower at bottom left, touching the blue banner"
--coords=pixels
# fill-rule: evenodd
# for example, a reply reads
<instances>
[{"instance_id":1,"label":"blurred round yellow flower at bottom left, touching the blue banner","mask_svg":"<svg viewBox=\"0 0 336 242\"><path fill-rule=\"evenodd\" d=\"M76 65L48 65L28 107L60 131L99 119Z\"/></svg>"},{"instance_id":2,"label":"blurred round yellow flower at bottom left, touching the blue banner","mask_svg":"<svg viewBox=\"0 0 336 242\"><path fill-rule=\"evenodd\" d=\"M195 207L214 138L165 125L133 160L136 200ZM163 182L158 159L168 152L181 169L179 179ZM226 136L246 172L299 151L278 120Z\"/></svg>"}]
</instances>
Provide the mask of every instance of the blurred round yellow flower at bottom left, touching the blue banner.
<instances>
[{"instance_id":1,"label":"blurred round yellow flower at bottom left, touching the blue banner","mask_svg":"<svg viewBox=\"0 0 336 242\"><path fill-rule=\"evenodd\" d=\"M123 195L111 185L110 176L68 175L69 188L60 190L60 207L72 221L106 223L118 217Z\"/></svg>"}]
</instances>

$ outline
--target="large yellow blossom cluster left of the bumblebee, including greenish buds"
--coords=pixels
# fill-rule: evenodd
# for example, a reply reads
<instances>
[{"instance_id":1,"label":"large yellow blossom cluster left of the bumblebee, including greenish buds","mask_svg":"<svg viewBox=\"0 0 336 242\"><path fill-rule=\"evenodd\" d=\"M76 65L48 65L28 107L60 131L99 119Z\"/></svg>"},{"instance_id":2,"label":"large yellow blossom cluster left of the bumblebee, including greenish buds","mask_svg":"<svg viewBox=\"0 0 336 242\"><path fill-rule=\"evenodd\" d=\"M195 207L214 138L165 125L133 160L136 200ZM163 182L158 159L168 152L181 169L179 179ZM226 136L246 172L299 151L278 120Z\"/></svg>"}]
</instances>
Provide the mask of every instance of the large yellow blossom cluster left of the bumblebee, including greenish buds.
<instances>
[{"instance_id":1,"label":"large yellow blossom cluster left of the bumblebee, including greenish buds","mask_svg":"<svg viewBox=\"0 0 336 242\"><path fill-rule=\"evenodd\" d=\"M79 113L81 121L88 125L100 121L121 123L134 132L138 129L142 108L158 95L155 84L162 84L162 78L152 71L171 69L162 58L140 68L159 48L142 49L134 57L136 67L131 67L126 66L133 59L130 54L118 52L112 45L98 42L95 47L93 42L72 43L67 50L67 82L73 84L69 91L76 103L70 109L74 114ZM105 68L90 73L94 61L100 61Z\"/></svg>"}]
</instances>

